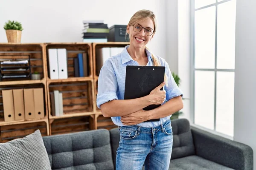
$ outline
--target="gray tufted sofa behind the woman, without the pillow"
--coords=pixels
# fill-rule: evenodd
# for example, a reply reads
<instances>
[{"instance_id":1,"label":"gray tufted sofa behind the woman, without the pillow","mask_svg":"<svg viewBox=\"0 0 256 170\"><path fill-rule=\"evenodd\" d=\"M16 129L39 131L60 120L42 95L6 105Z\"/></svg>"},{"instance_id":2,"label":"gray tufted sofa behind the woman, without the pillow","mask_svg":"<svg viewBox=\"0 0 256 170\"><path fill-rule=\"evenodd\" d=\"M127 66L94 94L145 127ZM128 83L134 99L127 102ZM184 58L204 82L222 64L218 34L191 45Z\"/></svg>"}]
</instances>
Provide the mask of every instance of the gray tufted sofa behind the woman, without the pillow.
<instances>
[{"instance_id":1,"label":"gray tufted sofa behind the woman, without the pillow","mask_svg":"<svg viewBox=\"0 0 256 170\"><path fill-rule=\"evenodd\" d=\"M251 147L172 120L169 170L253 170ZM90 130L44 136L53 170L114 170L119 130Z\"/></svg>"}]
</instances>

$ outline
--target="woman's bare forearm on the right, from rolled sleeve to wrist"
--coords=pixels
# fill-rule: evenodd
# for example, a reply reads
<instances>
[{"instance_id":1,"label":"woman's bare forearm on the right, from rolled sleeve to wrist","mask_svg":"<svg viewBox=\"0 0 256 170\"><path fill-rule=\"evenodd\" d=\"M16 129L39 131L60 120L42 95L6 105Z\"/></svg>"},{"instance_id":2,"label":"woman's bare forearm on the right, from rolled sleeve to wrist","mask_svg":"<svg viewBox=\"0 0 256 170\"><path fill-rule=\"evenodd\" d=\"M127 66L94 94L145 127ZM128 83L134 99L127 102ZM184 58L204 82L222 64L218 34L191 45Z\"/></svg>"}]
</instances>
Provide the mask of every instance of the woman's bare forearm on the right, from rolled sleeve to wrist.
<instances>
[{"instance_id":1,"label":"woman's bare forearm on the right, from rolled sleeve to wrist","mask_svg":"<svg viewBox=\"0 0 256 170\"><path fill-rule=\"evenodd\" d=\"M160 119L169 116L183 108L183 101L181 96L170 99L165 104L158 108L148 111L148 120L150 119Z\"/></svg>"}]
</instances>

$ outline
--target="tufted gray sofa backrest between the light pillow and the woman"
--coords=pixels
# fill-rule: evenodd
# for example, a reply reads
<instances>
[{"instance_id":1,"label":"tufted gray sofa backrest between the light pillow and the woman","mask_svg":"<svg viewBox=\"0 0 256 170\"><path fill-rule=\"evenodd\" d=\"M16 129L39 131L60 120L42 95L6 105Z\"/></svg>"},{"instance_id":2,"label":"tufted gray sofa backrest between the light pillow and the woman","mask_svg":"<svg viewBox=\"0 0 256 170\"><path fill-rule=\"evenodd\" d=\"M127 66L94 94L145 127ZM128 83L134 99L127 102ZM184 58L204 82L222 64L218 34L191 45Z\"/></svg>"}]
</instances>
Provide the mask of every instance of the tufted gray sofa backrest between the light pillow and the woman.
<instances>
[{"instance_id":1,"label":"tufted gray sofa backrest between the light pillow and the woman","mask_svg":"<svg viewBox=\"0 0 256 170\"><path fill-rule=\"evenodd\" d=\"M52 170L114 170L108 130L44 136Z\"/></svg>"}]
</instances>

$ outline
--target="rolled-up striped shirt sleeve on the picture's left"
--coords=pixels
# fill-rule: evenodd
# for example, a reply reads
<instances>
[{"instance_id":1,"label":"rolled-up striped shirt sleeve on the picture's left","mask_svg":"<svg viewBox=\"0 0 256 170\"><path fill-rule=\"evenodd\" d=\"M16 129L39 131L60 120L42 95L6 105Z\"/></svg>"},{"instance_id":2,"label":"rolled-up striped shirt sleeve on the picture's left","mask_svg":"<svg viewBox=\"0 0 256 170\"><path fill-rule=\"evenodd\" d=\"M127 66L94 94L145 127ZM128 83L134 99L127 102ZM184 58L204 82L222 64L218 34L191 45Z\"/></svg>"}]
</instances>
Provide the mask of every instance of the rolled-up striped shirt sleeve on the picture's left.
<instances>
[{"instance_id":1,"label":"rolled-up striped shirt sleeve on the picture's left","mask_svg":"<svg viewBox=\"0 0 256 170\"><path fill-rule=\"evenodd\" d=\"M98 94L96 98L97 107L117 98L117 80L116 74L111 66L103 66L101 68L98 79Z\"/></svg>"}]
</instances>

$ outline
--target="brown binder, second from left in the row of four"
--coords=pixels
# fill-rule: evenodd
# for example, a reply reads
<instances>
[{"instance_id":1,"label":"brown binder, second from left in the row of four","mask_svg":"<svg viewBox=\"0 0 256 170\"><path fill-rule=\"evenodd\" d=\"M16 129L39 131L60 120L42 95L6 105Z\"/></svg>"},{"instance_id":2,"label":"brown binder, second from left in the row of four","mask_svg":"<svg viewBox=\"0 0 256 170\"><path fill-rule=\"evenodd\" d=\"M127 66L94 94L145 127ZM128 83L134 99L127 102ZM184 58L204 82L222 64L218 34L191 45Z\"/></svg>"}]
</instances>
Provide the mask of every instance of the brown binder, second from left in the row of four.
<instances>
[{"instance_id":1,"label":"brown binder, second from left in the row of four","mask_svg":"<svg viewBox=\"0 0 256 170\"><path fill-rule=\"evenodd\" d=\"M23 89L13 89L13 103L14 103L14 113L15 120L24 120L24 99L23 99Z\"/></svg>"}]
</instances>

